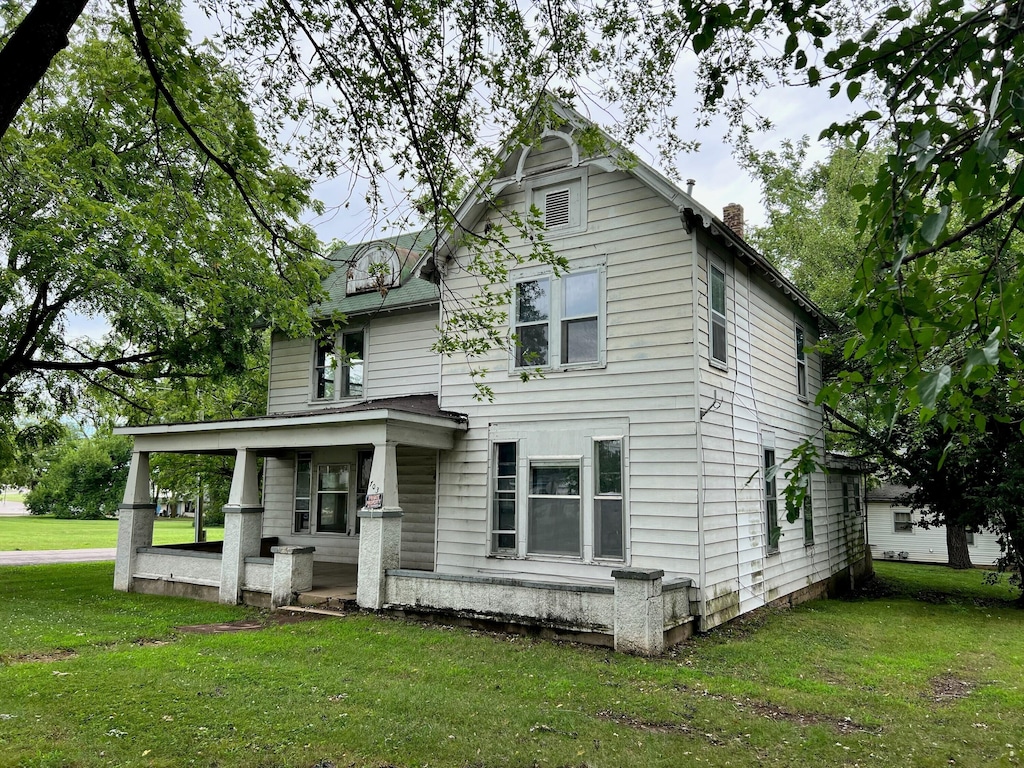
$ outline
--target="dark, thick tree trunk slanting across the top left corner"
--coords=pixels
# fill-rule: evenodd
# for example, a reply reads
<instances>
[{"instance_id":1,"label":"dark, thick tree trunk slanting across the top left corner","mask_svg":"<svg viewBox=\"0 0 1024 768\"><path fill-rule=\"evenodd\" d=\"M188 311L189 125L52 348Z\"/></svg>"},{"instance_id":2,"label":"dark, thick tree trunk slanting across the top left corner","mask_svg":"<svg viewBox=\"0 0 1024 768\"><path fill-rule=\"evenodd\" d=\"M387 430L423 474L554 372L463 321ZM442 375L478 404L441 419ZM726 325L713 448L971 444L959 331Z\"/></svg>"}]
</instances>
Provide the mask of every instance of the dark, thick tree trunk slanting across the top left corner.
<instances>
[{"instance_id":1,"label":"dark, thick tree trunk slanting across the top left corner","mask_svg":"<svg viewBox=\"0 0 1024 768\"><path fill-rule=\"evenodd\" d=\"M59 51L89 0L36 0L0 49L0 137Z\"/></svg>"}]
</instances>

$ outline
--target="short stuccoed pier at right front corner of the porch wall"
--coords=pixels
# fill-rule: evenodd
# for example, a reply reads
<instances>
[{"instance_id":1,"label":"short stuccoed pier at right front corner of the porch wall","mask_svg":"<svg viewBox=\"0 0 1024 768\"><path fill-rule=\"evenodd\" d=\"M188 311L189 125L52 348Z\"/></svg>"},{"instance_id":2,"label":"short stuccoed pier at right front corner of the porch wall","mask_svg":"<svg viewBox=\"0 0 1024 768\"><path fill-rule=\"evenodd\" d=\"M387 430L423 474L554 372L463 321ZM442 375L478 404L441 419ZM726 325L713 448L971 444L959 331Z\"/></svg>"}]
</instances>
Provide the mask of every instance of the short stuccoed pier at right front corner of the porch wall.
<instances>
[{"instance_id":1,"label":"short stuccoed pier at right front corner of the porch wall","mask_svg":"<svg viewBox=\"0 0 1024 768\"><path fill-rule=\"evenodd\" d=\"M665 651L665 601L658 568L617 568L615 650L654 656Z\"/></svg>"}]
</instances>

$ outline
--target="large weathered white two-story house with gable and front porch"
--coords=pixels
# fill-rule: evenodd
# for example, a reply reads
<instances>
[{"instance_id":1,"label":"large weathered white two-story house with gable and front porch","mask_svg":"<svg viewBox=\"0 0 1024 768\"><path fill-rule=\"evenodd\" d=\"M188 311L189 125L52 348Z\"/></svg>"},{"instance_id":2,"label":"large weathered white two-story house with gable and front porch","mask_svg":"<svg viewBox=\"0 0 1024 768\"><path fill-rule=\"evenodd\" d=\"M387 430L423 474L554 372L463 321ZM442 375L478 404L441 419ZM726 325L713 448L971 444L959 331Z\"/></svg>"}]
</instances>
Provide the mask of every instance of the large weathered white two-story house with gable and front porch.
<instances>
[{"instance_id":1,"label":"large weathered white two-story house with gable and front porch","mask_svg":"<svg viewBox=\"0 0 1024 768\"><path fill-rule=\"evenodd\" d=\"M431 350L439 297L478 287L459 237L354 247L325 307L348 326L273 337L266 417L121 430L118 589L282 604L314 560L347 562L364 607L657 652L869 572L859 470L815 474L794 523L773 471L822 439L819 310L743 241L738 206L727 225L643 163L587 157L583 119L557 112L458 214L483 232L536 208L569 264L510 259L518 346L473 361L494 400ZM237 456L221 552L151 546L158 452Z\"/></svg>"}]
</instances>

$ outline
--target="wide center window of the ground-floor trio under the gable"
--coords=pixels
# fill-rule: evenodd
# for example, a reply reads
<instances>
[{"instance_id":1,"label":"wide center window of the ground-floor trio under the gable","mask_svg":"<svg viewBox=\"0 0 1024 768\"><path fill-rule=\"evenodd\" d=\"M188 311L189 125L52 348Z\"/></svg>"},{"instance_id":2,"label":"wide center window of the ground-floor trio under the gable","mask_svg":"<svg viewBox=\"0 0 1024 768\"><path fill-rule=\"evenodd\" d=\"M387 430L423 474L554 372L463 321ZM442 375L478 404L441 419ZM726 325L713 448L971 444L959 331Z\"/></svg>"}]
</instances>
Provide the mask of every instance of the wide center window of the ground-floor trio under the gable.
<instances>
[{"instance_id":1,"label":"wide center window of the ground-floor trio under the gable","mask_svg":"<svg viewBox=\"0 0 1024 768\"><path fill-rule=\"evenodd\" d=\"M581 557L579 460L530 462L527 502L527 551Z\"/></svg>"}]
</instances>

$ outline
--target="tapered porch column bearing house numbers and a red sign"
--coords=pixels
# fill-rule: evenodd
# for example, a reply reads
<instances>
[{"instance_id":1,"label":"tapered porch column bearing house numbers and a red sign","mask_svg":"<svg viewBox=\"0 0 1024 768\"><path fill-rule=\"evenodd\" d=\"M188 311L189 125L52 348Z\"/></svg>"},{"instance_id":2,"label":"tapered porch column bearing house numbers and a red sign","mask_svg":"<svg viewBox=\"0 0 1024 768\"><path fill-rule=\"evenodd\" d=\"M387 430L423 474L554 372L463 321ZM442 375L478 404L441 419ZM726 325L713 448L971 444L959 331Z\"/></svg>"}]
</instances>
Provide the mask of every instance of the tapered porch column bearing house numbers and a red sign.
<instances>
[{"instance_id":1,"label":"tapered porch column bearing house numbers and a red sign","mask_svg":"<svg viewBox=\"0 0 1024 768\"><path fill-rule=\"evenodd\" d=\"M401 516L398 505L398 467L395 443L374 446L366 506L358 511L359 565L355 601L360 608L384 605L385 571L397 568L401 558Z\"/></svg>"}]
</instances>

